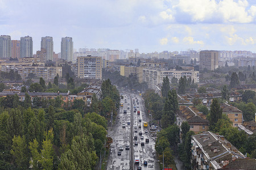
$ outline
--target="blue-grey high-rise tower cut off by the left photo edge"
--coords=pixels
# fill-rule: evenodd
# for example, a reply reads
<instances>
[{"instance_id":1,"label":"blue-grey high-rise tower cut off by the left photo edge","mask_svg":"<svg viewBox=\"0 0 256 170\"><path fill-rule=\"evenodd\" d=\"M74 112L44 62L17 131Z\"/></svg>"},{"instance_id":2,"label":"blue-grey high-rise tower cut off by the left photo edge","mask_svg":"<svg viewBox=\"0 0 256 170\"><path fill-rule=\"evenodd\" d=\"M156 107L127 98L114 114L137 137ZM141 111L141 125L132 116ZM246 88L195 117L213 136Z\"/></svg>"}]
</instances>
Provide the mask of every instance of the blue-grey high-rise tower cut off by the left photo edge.
<instances>
[{"instance_id":1,"label":"blue-grey high-rise tower cut off by the left photo edge","mask_svg":"<svg viewBox=\"0 0 256 170\"><path fill-rule=\"evenodd\" d=\"M0 36L0 58L11 58L11 36Z\"/></svg>"}]
</instances>

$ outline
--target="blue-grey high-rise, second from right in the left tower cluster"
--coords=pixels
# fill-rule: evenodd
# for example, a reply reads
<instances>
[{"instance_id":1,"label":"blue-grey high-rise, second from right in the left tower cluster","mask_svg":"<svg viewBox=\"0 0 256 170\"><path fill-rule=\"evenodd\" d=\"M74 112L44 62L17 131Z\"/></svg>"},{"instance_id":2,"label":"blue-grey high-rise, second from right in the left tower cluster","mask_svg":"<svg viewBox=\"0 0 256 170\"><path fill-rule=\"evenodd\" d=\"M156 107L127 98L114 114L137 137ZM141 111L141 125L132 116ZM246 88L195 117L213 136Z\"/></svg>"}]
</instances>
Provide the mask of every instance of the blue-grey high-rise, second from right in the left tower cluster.
<instances>
[{"instance_id":1,"label":"blue-grey high-rise, second from right in the left tower cluster","mask_svg":"<svg viewBox=\"0 0 256 170\"><path fill-rule=\"evenodd\" d=\"M53 61L53 39L52 37L42 37L41 49L46 49L46 60Z\"/></svg>"}]
</instances>

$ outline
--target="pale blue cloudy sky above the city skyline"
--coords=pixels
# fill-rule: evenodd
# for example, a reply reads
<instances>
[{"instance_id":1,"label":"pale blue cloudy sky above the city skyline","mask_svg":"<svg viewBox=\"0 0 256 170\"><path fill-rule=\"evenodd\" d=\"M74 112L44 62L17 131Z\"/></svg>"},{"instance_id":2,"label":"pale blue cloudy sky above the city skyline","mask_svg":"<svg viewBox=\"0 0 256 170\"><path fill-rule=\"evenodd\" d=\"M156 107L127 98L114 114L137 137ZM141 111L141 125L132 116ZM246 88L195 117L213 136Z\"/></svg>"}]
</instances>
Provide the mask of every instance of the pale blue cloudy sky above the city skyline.
<instances>
[{"instance_id":1,"label":"pale blue cloudy sky above the city skyline","mask_svg":"<svg viewBox=\"0 0 256 170\"><path fill-rule=\"evenodd\" d=\"M255 0L0 0L0 34L74 48L256 52Z\"/></svg>"}]
</instances>

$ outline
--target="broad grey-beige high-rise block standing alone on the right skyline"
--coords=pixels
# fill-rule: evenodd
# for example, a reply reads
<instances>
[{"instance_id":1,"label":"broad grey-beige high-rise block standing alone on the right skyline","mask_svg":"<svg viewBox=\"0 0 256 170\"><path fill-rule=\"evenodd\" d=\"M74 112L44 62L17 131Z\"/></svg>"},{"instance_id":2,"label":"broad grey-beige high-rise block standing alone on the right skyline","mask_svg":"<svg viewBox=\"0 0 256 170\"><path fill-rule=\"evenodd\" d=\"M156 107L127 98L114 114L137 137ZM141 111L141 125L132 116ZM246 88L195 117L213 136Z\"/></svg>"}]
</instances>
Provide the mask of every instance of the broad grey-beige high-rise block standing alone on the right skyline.
<instances>
[{"instance_id":1,"label":"broad grey-beige high-rise block standing alone on the right skyline","mask_svg":"<svg viewBox=\"0 0 256 170\"><path fill-rule=\"evenodd\" d=\"M203 50L200 51L200 71L204 69L215 70L218 68L218 51Z\"/></svg>"}]
</instances>

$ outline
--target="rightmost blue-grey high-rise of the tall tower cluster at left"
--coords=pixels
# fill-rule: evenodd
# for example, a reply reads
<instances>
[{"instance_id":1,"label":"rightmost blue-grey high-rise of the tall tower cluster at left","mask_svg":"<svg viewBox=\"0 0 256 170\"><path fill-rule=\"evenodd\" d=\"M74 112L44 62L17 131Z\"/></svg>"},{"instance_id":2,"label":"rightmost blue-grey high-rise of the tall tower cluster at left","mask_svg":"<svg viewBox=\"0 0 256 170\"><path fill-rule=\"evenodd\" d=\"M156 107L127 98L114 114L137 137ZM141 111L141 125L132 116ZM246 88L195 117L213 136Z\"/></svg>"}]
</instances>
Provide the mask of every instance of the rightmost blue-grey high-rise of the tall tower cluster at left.
<instances>
[{"instance_id":1,"label":"rightmost blue-grey high-rise of the tall tower cluster at left","mask_svg":"<svg viewBox=\"0 0 256 170\"><path fill-rule=\"evenodd\" d=\"M72 37L61 38L61 58L67 61L73 61Z\"/></svg>"}]
</instances>

